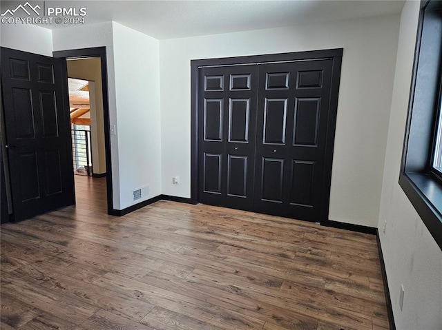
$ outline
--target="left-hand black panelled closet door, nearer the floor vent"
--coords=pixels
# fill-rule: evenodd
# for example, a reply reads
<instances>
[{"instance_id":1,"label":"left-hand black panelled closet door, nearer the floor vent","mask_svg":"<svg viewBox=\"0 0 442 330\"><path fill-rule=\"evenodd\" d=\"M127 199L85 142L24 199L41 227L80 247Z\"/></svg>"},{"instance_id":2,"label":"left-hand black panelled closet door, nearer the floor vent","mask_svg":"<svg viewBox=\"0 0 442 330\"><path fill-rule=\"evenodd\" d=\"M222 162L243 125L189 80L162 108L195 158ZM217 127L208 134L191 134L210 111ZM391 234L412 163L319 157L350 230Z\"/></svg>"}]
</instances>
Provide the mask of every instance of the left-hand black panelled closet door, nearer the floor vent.
<instances>
[{"instance_id":1,"label":"left-hand black panelled closet door, nearer the floor vent","mask_svg":"<svg viewBox=\"0 0 442 330\"><path fill-rule=\"evenodd\" d=\"M199 201L252 209L258 66L200 70Z\"/></svg>"}]
</instances>

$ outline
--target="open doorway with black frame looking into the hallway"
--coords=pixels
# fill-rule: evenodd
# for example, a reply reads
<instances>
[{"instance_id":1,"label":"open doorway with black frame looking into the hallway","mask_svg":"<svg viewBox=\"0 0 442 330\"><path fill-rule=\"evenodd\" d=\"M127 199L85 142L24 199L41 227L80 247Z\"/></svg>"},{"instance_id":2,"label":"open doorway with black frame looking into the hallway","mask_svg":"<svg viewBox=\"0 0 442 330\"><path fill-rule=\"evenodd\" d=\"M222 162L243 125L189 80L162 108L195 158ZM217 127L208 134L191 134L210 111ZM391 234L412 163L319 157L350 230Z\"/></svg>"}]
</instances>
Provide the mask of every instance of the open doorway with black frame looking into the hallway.
<instances>
[{"instance_id":1,"label":"open doorway with black frame looking into the hallway","mask_svg":"<svg viewBox=\"0 0 442 330\"><path fill-rule=\"evenodd\" d=\"M77 205L81 203L84 189L90 189L104 203L102 211L106 212L107 209L108 214L115 214L106 47L64 50L53 52L53 55L66 59L66 79L70 85L69 112L73 133L74 173L81 174L75 176Z\"/></svg>"}]
</instances>

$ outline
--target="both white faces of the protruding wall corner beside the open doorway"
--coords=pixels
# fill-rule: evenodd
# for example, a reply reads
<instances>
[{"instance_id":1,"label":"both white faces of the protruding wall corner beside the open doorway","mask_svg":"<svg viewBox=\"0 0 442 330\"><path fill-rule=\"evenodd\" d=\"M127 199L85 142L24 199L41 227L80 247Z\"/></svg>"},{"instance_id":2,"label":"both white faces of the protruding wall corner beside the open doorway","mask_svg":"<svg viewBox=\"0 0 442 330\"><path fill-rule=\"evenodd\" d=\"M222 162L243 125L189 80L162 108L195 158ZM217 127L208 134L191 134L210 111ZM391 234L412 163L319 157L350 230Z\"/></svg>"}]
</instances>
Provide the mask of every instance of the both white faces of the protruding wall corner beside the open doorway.
<instances>
[{"instance_id":1,"label":"both white faces of the protruding wall corner beside the open doorway","mask_svg":"<svg viewBox=\"0 0 442 330\"><path fill-rule=\"evenodd\" d=\"M149 186L142 200L160 195L160 70L156 39L115 22L55 30L54 50L106 46L115 209L133 205L133 189ZM146 193L143 189L143 193ZM140 200L138 200L140 202Z\"/></svg>"}]
</instances>

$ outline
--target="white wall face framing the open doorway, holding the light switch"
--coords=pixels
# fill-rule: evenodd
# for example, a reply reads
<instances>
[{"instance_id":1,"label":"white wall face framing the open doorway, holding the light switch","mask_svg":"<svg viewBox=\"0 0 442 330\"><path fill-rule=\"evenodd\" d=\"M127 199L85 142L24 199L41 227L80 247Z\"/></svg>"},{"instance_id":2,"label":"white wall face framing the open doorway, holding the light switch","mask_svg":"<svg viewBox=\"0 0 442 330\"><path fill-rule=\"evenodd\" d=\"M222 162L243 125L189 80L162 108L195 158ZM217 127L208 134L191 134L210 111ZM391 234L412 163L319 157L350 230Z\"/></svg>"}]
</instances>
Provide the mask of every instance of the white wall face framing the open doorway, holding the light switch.
<instances>
[{"instance_id":1,"label":"white wall face framing the open doorway, holding the light switch","mask_svg":"<svg viewBox=\"0 0 442 330\"><path fill-rule=\"evenodd\" d=\"M117 106L115 101L115 70L113 56L112 22L91 25L75 25L52 32L53 48L57 50L76 50L80 48L106 47L108 70L109 121L117 125ZM111 161L113 181L113 207L121 209L119 200L119 157L117 136L111 135Z\"/></svg>"}]
</instances>

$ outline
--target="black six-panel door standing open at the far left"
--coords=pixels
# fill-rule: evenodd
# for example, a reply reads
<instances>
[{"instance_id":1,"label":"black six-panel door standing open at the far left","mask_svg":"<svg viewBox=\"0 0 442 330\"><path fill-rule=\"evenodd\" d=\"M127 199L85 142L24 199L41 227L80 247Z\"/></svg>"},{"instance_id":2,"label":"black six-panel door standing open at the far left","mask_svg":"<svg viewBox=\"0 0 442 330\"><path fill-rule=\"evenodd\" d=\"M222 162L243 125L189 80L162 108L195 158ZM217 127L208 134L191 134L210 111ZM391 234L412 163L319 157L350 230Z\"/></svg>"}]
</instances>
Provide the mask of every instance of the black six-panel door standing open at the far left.
<instances>
[{"instance_id":1,"label":"black six-panel door standing open at the far left","mask_svg":"<svg viewBox=\"0 0 442 330\"><path fill-rule=\"evenodd\" d=\"M1 48L15 220L75 203L66 71L60 59Z\"/></svg>"}]
</instances>

